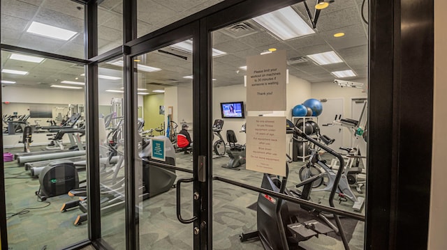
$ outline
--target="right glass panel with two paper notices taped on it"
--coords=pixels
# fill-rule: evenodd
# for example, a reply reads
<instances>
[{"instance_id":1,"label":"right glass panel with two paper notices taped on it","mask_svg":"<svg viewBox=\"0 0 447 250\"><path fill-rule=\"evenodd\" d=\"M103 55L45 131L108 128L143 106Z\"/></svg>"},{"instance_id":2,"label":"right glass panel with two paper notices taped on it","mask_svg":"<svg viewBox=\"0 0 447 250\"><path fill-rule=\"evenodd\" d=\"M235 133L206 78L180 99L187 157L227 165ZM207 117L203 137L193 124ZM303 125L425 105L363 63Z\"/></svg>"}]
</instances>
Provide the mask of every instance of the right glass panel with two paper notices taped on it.
<instances>
[{"instance_id":1,"label":"right glass panel with two paper notices taped on it","mask_svg":"<svg viewBox=\"0 0 447 250\"><path fill-rule=\"evenodd\" d=\"M363 249L367 114L344 101L319 118L324 100L367 98L367 30L357 6L325 4L212 31L214 249Z\"/></svg>"}]
</instances>

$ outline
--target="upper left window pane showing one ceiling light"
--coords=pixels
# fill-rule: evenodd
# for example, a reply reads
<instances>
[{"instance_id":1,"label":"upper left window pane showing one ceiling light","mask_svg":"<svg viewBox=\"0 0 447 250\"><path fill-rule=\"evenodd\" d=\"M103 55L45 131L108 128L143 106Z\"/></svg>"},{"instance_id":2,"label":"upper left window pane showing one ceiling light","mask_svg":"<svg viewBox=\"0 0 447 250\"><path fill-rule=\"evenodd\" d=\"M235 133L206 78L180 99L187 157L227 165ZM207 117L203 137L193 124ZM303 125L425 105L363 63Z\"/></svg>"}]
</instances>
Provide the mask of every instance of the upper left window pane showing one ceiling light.
<instances>
[{"instance_id":1,"label":"upper left window pane showing one ceiling light","mask_svg":"<svg viewBox=\"0 0 447 250\"><path fill-rule=\"evenodd\" d=\"M84 58L84 6L69 0L1 1L1 43Z\"/></svg>"}]
</instances>

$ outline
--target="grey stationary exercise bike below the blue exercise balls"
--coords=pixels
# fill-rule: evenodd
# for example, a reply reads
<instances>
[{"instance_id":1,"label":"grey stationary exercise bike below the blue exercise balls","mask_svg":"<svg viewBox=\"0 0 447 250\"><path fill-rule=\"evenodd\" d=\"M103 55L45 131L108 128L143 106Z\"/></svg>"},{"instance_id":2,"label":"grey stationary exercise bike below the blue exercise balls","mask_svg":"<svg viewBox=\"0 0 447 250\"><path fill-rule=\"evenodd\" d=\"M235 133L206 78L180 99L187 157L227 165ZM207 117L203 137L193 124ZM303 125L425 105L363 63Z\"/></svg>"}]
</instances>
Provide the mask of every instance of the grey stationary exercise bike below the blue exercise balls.
<instances>
[{"instance_id":1,"label":"grey stationary exercise bike below the blue exercise balls","mask_svg":"<svg viewBox=\"0 0 447 250\"><path fill-rule=\"evenodd\" d=\"M327 182L324 183L325 187L323 189L316 189L314 190L314 192L330 192L332 190L332 187L334 187L335 185L337 172L334 171L332 167L328 166L325 160L321 159L320 155L318 154L318 151L321 149L321 147L318 146L318 144L316 143L314 143L314 145L314 148L309 149L311 152L309 162L307 162L307 164L305 164L305 166L302 166L300 169L300 180L303 181L311 178L314 175L320 175L322 173L321 169L323 169L324 178L319 178L318 180L314 181L312 187L320 187L321 185L323 185L325 180L327 180ZM346 169L346 171L343 171L342 173L342 178L339 180L339 183L337 185L337 194L340 197L340 201L347 201L347 199L353 201L353 210L360 211L362 210L362 206L365 203L365 198L356 197L356 195L353 194L351 187L349 187L348 178L346 177L347 175L349 175L349 169Z\"/></svg>"}]
</instances>

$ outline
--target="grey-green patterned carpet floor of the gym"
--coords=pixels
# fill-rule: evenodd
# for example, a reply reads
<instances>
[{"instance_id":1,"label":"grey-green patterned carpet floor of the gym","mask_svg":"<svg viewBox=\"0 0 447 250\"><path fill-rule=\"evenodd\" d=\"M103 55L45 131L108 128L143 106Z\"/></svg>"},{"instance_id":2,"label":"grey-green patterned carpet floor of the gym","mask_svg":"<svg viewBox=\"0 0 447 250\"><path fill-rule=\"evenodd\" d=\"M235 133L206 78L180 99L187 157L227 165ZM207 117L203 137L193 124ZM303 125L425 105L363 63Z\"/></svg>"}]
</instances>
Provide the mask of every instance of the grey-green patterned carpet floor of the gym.
<instances>
[{"instance_id":1,"label":"grey-green patterned carpet floor of the gym","mask_svg":"<svg viewBox=\"0 0 447 250\"><path fill-rule=\"evenodd\" d=\"M192 169L192 155L177 153L177 166ZM262 174L221 168L228 157L214 159L213 174L259 187ZM299 182L298 171L302 162L291 164L288 184L293 187ZM5 175L16 177L6 179L6 209L17 213L24 208L38 208L46 203L36 201L34 192L38 189L38 180L29 179L28 173L15 162L6 162ZM24 178L24 179L18 179ZM80 179L85 172L80 173ZM191 178L191 174L177 171L178 178ZM249 207L256 203L258 194L223 182L213 182L213 242L212 249L263 249L261 242L240 242L242 232L256 230L256 211ZM355 192L356 193L356 192ZM181 224L176 217L175 189L149 198L138 205L140 249L192 249L192 224ZM357 193L356 193L357 194ZM325 203L328 192L316 192L314 201ZM73 198L67 195L49 198L46 208L29 210L8 219L8 241L10 249L61 249L68 244L87 238L87 224L74 226L75 217L80 210L59 212L60 206ZM337 207L352 211L350 202L337 203ZM191 217L192 185L182 184L182 217ZM124 209L109 212L101 216L103 239L114 249L125 249L126 223ZM351 223L351 222L350 222ZM351 249L363 249L363 223L351 223ZM321 235L307 242L300 242L304 249L344 249L341 241Z\"/></svg>"}]
</instances>

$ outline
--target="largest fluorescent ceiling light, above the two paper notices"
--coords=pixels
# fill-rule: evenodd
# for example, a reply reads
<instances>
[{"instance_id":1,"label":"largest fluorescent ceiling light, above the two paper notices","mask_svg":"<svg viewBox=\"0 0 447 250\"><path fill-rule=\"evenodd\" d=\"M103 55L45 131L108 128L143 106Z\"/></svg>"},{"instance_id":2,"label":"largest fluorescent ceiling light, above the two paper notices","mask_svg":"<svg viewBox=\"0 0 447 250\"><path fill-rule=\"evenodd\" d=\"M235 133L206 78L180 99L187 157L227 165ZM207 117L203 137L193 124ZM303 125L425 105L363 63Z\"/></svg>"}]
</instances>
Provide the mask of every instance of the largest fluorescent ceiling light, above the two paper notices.
<instances>
[{"instance_id":1,"label":"largest fluorescent ceiling light, above the two paper notices","mask_svg":"<svg viewBox=\"0 0 447 250\"><path fill-rule=\"evenodd\" d=\"M315 33L315 31L296 13L291 6L253 18L282 40L298 38Z\"/></svg>"}]
</instances>

